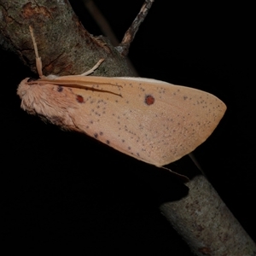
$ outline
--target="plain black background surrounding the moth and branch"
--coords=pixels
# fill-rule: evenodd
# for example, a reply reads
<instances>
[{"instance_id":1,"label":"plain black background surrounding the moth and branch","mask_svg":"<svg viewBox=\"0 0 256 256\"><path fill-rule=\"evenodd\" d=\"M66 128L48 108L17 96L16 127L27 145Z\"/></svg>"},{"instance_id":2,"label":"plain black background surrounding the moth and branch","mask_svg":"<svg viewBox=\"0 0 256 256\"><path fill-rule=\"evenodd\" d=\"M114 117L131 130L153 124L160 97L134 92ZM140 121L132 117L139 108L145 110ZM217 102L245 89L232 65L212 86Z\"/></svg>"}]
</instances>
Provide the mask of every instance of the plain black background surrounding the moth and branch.
<instances>
[{"instance_id":1,"label":"plain black background surrounding the moth and branch","mask_svg":"<svg viewBox=\"0 0 256 256\"><path fill-rule=\"evenodd\" d=\"M143 1L95 3L121 40ZM72 4L84 27L102 34L82 3ZM252 7L201 4L155 1L129 57L141 77L206 90L226 103L224 119L195 156L256 241ZM181 198L186 187L154 166L22 111L16 88L32 73L15 55L1 56L4 236L44 244L74 240L87 255L191 255L158 208ZM170 167L176 166L183 160Z\"/></svg>"}]
</instances>

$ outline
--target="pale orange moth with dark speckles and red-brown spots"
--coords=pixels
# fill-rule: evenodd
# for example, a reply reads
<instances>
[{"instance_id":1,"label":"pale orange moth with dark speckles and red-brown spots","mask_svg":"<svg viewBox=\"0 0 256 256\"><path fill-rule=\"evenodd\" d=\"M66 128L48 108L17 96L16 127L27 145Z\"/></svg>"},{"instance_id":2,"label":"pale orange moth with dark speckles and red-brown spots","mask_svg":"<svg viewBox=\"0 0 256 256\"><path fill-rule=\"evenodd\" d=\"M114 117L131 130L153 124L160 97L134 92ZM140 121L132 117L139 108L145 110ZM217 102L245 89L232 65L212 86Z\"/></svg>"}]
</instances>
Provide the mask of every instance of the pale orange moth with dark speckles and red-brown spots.
<instances>
[{"instance_id":1,"label":"pale orange moth with dark speckles and red-brown spots","mask_svg":"<svg viewBox=\"0 0 256 256\"><path fill-rule=\"evenodd\" d=\"M63 129L165 166L203 143L224 116L224 102L202 90L155 79L87 76L102 60L81 75L44 77L30 31L40 79L20 82L21 108Z\"/></svg>"}]
</instances>

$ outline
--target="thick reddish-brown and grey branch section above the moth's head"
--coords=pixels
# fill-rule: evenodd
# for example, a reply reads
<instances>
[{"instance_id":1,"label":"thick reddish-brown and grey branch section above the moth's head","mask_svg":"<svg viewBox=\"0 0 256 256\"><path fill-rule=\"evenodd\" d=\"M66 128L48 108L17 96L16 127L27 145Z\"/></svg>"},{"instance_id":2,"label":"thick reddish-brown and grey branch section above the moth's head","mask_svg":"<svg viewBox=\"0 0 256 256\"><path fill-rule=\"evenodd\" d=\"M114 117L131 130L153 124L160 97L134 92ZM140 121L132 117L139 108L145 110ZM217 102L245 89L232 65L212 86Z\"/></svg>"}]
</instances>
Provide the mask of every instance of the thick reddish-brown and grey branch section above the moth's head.
<instances>
[{"instance_id":1,"label":"thick reddish-brown and grey branch section above the moth's head","mask_svg":"<svg viewBox=\"0 0 256 256\"><path fill-rule=\"evenodd\" d=\"M0 43L19 55L36 73L29 26L32 26L43 61L44 75L79 74L97 61L106 61L95 75L131 76L125 58L107 38L93 37L84 29L68 1L0 1Z\"/></svg>"}]
</instances>

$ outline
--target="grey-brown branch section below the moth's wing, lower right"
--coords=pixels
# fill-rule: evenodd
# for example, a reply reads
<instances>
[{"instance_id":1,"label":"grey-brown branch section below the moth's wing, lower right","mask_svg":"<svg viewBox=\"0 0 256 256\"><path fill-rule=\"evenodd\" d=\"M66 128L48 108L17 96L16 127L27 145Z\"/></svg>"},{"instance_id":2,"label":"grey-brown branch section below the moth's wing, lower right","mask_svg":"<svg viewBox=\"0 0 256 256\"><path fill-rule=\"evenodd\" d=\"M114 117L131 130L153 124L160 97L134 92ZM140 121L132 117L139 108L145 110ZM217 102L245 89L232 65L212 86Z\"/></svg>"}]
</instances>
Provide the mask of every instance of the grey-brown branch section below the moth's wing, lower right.
<instances>
[{"instance_id":1,"label":"grey-brown branch section below the moth's wing, lower right","mask_svg":"<svg viewBox=\"0 0 256 256\"><path fill-rule=\"evenodd\" d=\"M204 176L186 183L189 195L161 212L196 255L256 255L256 246Z\"/></svg>"}]
</instances>

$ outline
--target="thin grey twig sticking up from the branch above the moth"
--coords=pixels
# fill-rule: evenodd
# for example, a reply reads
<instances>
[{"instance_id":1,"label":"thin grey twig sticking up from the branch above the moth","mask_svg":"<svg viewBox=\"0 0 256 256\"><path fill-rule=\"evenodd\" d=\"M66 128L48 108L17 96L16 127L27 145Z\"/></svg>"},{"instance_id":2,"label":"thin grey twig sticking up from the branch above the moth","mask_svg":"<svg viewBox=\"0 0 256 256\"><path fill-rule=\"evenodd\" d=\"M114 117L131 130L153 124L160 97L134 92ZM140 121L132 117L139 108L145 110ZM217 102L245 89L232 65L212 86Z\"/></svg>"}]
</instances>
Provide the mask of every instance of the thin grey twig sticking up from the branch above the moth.
<instances>
[{"instance_id":1,"label":"thin grey twig sticking up from the branch above the moth","mask_svg":"<svg viewBox=\"0 0 256 256\"><path fill-rule=\"evenodd\" d=\"M122 43L119 44L119 47L118 47L121 55L128 55L131 42L135 38L135 35L138 31L139 26L143 23L143 20L148 15L148 11L151 8L153 2L154 0L145 0L145 3L143 3L142 9L138 13L135 20L133 20L127 32L125 32L125 36L122 40Z\"/></svg>"}]
</instances>

